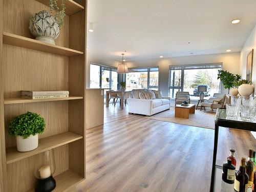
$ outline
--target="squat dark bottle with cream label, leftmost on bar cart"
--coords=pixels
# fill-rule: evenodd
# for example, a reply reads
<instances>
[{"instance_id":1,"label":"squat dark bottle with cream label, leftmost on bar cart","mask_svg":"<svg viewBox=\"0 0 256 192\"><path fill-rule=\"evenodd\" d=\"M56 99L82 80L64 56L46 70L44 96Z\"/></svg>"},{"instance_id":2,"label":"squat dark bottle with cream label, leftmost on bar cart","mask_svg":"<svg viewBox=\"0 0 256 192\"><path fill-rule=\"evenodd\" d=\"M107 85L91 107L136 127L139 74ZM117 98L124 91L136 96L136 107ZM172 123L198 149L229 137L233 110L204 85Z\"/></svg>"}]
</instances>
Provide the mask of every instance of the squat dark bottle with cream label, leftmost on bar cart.
<instances>
[{"instance_id":1,"label":"squat dark bottle with cream label, leftmost on bar cart","mask_svg":"<svg viewBox=\"0 0 256 192\"><path fill-rule=\"evenodd\" d=\"M232 160L228 159L227 163L223 163L222 180L226 183L234 183L234 174L236 173L236 167L232 165Z\"/></svg>"}]
</instances>

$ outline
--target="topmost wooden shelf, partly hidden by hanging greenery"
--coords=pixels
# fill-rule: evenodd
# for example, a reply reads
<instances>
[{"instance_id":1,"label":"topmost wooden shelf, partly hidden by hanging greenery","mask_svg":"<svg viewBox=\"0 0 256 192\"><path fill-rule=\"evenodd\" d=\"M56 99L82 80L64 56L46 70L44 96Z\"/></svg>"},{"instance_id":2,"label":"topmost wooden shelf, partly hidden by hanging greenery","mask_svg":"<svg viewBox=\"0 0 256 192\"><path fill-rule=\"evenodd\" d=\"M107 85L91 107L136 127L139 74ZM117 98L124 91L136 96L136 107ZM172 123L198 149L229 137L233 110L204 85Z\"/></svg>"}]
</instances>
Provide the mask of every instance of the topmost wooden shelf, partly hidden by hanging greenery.
<instances>
[{"instance_id":1,"label":"topmost wooden shelf, partly hidden by hanging greenery","mask_svg":"<svg viewBox=\"0 0 256 192\"><path fill-rule=\"evenodd\" d=\"M36 0L42 4L45 4L49 6L49 0ZM61 1L57 1L58 7L61 7ZM77 13L79 11L82 11L84 9L83 6L79 5L78 3L72 1L72 0L65 0L64 1L66 10L65 13L66 15L73 15L74 13Z\"/></svg>"}]
</instances>

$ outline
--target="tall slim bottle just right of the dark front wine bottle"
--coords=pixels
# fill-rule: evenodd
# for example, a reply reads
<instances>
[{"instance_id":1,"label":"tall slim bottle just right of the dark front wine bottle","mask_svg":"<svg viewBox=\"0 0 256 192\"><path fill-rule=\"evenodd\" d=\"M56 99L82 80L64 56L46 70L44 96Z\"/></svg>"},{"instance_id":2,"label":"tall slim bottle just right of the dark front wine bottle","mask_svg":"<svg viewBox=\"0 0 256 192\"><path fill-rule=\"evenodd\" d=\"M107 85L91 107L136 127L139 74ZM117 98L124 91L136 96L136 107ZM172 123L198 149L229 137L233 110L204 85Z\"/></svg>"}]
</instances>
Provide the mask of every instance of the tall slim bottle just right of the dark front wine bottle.
<instances>
[{"instance_id":1,"label":"tall slim bottle just right of the dark front wine bottle","mask_svg":"<svg viewBox=\"0 0 256 192\"><path fill-rule=\"evenodd\" d=\"M254 180L254 172L253 172L254 165L253 165L252 157L253 157L253 150L249 150L248 159L245 162L245 172L249 177L248 192L252 191L253 180Z\"/></svg>"}]
</instances>

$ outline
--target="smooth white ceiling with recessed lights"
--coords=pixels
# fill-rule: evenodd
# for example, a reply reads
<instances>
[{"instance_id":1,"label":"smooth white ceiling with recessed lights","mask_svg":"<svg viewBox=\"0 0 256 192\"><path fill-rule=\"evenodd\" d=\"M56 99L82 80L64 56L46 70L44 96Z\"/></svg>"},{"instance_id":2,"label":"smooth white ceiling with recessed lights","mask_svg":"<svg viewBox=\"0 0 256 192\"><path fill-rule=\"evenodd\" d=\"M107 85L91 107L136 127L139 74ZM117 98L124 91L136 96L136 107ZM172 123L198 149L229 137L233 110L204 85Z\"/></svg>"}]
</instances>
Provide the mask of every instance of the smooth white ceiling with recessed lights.
<instances>
[{"instance_id":1,"label":"smooth white ceiling with recessed lights","mask_svg":"<svg viewBox=\"0 0 256 192\"><path fill-rule=\"evenodd\" d=\"M113 65L124 50L128 61L238 52L256 24L256 0L89 0L88 23L92 62Z\"/></svg>"}]
</instances>

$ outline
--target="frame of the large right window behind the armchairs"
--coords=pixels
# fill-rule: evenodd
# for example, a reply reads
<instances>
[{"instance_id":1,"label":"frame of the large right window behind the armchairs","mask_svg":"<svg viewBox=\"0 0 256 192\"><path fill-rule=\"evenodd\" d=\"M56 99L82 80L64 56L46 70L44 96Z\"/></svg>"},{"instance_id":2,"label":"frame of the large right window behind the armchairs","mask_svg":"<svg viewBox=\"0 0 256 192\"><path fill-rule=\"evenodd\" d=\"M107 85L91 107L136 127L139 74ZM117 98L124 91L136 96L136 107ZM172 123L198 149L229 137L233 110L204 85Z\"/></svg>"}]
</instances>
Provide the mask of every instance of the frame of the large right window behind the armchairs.
<instances>
[{"instance_id":1,"label":"frame of the large right window behind the armchairs","mask_svg":"<svg viewBox=\"0 0 256 192\"><path fill-rule=\"evenodd\" d=\"M205 68L206 66L218 66L218 67ZM193 68L193 67L195 67L195 68ZM171 72L172 72L172 69L175 70L175 68L180 68L180 69L176 69L176 70L181 70L181 86L179 86L179 87L170 85ZM179 89L180 91L183 91L183 89L184 89L184 71L188 70L188 68L191 68L191 69L219 69L220 68L222 70L223 69L223 63L222 62L215 62L215 63L203 63L203 64L193 64L193 65L169 66L168 95L170 97L171 97L170 89ZM222 83L221 82L220 82L220 89L219 90L222 90ZM172 98L174 98L174 97L172 97Z\"/></svg>"}]
</instances>

